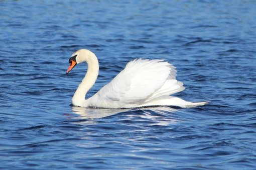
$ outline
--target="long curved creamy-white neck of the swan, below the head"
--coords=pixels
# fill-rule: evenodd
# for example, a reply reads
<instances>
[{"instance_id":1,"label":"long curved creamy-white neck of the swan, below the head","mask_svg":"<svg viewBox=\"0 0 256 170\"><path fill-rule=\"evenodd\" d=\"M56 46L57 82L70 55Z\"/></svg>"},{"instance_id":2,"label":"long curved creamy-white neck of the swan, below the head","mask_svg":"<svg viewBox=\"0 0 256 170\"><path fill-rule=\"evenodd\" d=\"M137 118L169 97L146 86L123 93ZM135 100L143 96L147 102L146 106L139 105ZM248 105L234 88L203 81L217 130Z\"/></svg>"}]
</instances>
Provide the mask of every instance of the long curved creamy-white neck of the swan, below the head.
<instances>
[{"instance_id":1,"label":"long curved creamy-white neck of the swan, below the head","mask_svg":"<svg viewBox=\"0 0 256 170\"><path fill-rule=\"evenodd\" d=\"M99 72L99 63L96 56L86 62L88 64L87 72L72 98L72 104L76 106L87 106L85 95L95 83Z\"/></svg>"}]
</instances>

